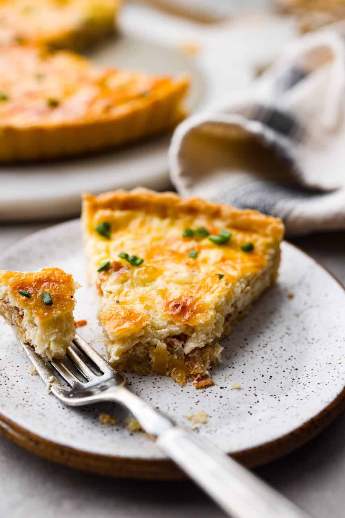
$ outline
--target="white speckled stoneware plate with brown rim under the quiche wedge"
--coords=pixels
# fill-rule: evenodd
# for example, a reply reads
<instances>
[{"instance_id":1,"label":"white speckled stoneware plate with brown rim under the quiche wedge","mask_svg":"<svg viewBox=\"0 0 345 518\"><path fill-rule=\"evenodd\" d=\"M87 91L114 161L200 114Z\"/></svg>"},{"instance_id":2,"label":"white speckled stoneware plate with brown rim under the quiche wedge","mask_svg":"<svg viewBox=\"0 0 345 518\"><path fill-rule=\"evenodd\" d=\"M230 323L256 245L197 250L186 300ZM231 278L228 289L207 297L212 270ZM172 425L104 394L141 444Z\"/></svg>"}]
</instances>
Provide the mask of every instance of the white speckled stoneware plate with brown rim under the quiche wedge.
<instances>
[{"instance_id":1,"label":"white speckled stoneware plate with brown rim under the quiche wedge","mask_svg":"<svg viewBox=\"0 0 345 518\"><path fill-rule=\"evenodd\" d=\"M96 304L84 276L80 223L74 220L29 236L0 258L1 269L58 266L83 287L76 320L88 341L99 336ZM294 294L293 298L288 293ZM275 459L303 444L344 406L345 321L343 287L309 256L282 245L279 282L222 344L215 386L197 391L171 378L128 375L131 389L190 426L184 416L203 410L205 436L249 466ZM115 476L169 479L181 473L145 434L130 433L127 412L114 404L69 408L28 374L28 359L9 326L0 322L0 428L39 455ZM102 352L101 344L95 346ZM238 384L241 389L232 390ZM99 422L101 412L117 424Z\"/></svg>"}]
</instances>

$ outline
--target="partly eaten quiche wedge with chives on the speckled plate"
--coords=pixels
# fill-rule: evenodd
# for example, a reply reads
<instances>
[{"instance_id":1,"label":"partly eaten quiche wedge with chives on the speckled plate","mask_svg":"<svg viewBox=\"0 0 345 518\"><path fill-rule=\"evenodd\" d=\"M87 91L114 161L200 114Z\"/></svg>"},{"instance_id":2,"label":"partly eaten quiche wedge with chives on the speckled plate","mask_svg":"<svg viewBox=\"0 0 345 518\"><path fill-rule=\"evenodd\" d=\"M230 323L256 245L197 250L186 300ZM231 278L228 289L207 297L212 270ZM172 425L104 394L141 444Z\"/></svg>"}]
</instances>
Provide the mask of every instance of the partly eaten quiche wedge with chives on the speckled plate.
<instances>
[{"instance_id":1,"label":"partly eaten quiche wedge with chives on the speckled plate","mask_svg":"<svg viewBox=\"0 0 345 518\"><path fill-rule=\"evenodd\" d=\"M218 340L277 277L280 220L136 189L85 194L82 223L109 361L213 384Z\"/></svg>"}]
</instances>

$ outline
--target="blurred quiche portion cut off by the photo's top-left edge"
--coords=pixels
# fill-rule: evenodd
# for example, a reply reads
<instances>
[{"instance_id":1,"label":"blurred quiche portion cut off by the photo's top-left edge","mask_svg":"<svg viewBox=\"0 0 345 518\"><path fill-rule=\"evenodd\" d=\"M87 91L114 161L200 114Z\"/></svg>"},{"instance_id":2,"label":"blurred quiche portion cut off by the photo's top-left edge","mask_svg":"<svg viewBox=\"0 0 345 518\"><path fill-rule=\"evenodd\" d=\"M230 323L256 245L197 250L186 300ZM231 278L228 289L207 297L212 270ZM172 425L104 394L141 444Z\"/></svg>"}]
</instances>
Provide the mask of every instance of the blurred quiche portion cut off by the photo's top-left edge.
<instances>
[{"instance_id":1,"label":"blurred quiche portion cut off by the photo's top-left edge","mask_svg":"<svg viewBox=\"0 0 345 518\"><path fill-rule=\"evenodd\" d=\"M0 45L81 50L114 31L120 0L2 0Z\"/></svg>"}]
</instances>

